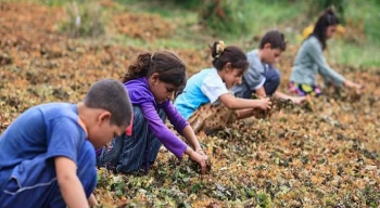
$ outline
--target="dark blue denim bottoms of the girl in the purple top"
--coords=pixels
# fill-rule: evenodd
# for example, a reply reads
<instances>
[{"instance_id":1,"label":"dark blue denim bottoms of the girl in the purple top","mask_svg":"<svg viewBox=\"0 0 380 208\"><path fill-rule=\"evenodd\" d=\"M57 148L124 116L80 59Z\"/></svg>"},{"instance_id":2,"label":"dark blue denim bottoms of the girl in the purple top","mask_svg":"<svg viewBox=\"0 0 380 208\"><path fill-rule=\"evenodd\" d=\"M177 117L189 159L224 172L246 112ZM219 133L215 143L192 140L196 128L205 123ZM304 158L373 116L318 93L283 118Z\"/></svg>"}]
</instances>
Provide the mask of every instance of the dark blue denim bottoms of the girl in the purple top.
<instances>
[{"instance_id":1,"label":"dark blue denim bottoms of the girl in the purple top","mask_svg":"<svg viewBox=\"0 0 380 208\"><path fill-rule=\"evenodd\" d=\"M164 110L159 110L163 121L166 120ZM125 133L113 139L111 148L102 150L97 158L98 167L106 167L118 172L134 172L141 167L148 172L154 162L161 147L160 140L151 132L144 115L139 106L134 106L132 135Z\"/></svg>"}]
</instances>

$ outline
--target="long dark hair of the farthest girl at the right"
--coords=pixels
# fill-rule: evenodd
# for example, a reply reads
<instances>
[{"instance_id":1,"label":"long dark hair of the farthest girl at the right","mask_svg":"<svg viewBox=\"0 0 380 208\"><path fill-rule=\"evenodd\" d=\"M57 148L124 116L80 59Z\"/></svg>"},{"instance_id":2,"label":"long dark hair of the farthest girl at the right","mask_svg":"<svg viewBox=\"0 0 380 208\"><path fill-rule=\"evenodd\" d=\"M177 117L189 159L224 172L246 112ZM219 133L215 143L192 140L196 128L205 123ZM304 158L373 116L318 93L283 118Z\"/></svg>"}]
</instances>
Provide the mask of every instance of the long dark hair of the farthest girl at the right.
<instances>
[{"instance_id":1,"label":"long dark hair of the farthest girl at the right","mask_svg":"<svg viewBox=\"0 0 380 208\"><path fill-rule=\"evenodd\" d=\"M327 28L331 25L338 25L339 18L333 12L332 9L327 9L324 11L324 13L319 16L317 23L315 24L314 30L311 34L311 36L315 36L320 43L322 44L322 49L326 49L326 31Z\"/></svg>"}]
</instances>

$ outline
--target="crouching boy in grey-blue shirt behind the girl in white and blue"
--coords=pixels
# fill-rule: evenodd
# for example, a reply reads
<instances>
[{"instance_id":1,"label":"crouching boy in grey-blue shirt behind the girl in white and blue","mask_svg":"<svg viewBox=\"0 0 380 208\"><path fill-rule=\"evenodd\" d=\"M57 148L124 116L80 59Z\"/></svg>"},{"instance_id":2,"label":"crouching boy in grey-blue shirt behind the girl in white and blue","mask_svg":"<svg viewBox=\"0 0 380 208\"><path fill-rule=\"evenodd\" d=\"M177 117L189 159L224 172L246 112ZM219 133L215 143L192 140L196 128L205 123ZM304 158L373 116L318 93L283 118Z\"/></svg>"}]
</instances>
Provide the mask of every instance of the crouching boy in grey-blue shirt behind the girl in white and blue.
<instances>
[{"instance_id":1,"label":"crouching boy in grey-blue shirt behind the girl in white and blue","mask_svg":"<svg viewBox=\"0 0 380 208\"><path fill-rule=\"evenodd\" d=\"M243 76L242 83L232 88L233 94L238 98L251 99L252 93L255 93L262 98L274 95L297 104L303 102L304 98L290 96L277 91L281 78L274 64L278 62L286 49L283 34L278 30L266 32L258 49L246 53L250 66Z\"/></svg>"}]
</instances>

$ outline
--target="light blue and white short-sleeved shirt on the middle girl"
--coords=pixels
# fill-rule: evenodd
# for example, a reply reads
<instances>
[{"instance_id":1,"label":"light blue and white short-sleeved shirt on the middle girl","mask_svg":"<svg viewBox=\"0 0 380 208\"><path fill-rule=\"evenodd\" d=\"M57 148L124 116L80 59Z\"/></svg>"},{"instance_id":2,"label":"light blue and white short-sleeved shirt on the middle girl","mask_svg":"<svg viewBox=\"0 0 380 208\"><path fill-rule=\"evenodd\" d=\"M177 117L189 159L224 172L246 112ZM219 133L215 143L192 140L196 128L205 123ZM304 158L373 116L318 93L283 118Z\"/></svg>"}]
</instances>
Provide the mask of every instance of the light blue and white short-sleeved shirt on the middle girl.
<instances>
[{"instance_id":1,"label":"light blue and white short-sleeved shirt on the middle girl","mask_svg":"<svg viewBox=\"0 0 380 208\"><path fill-rule=\"evenodd\" d=\"M207 68L190 77L183 93L178 95L174 105L185 119L189 119L201 105L219 104L219 96L227 93L226 83L217 70Z\"/></svg>"}]
</instances>

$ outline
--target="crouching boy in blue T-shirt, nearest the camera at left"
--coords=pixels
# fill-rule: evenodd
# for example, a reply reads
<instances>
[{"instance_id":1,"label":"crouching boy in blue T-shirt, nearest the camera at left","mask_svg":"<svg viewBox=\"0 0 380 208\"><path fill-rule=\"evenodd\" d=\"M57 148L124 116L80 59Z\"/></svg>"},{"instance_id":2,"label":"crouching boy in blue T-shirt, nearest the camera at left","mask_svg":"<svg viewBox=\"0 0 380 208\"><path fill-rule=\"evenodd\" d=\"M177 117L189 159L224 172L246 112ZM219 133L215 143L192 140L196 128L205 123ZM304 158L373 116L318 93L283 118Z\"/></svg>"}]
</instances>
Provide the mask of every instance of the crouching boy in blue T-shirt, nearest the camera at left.
<instances>
[{"instance_id":1,"label":"crouching boy in blue T-shirt, nearest the camera at left","mask_svg":"<svg viewBox=\"0 0 380 208\"><path fill-rule=\"evenodd\" d=\"M131 104L124 86L103 79L78 104L27 109L0 138L1 207L96 204L96 152L125 132Z\"/></svg>"}]
</instances>

